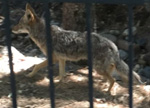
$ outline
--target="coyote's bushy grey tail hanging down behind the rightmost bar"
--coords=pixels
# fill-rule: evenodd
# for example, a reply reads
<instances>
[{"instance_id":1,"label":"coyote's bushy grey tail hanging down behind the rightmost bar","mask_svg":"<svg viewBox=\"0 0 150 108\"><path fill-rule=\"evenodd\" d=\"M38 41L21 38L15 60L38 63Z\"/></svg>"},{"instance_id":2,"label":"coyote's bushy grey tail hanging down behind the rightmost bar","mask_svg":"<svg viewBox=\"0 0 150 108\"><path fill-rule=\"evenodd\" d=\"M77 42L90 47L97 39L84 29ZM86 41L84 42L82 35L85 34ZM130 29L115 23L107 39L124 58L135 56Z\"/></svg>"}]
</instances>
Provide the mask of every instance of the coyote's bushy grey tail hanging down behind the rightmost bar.
<instances>
[{"instance_id":1,"label":"coyote's bushy grey tail hanging down behind the rightmost bar","mask_svg":"<svg viewBox=\"0 0 150 108\"><path fill-rule=\"evenodd\" d=\"M119 75L122 77L122 79L125 82L128 82L129 67L123 60L119 58L116 60L116 70L119 73ZM133 83L143 84L143 82L141 81L141 77L134 71L133 71Z\"/></svg>"}]
</instances>

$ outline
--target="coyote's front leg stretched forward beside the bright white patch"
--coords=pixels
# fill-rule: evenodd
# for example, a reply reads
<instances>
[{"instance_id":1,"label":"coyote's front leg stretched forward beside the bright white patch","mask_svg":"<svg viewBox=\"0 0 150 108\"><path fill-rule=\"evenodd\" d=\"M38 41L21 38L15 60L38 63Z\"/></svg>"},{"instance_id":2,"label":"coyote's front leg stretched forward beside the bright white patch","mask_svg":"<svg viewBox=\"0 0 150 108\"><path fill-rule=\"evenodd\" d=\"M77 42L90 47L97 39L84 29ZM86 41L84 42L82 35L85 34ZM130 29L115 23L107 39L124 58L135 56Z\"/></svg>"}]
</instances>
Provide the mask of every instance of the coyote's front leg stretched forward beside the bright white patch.
<instances>
[{"instance_id":1,"label":"coyote's front leg stretched forward beside the bright white patch","mask_svg":"<svg viewBox=\"0 0 150 108\"><path fill-rule=\"evenodd\" d=\"M48 60L43 61L40 64L35 65L33 71L27 75L27 77L33 77L41 68L44 68L48 65Z\"/></svg>"}]
</instances>

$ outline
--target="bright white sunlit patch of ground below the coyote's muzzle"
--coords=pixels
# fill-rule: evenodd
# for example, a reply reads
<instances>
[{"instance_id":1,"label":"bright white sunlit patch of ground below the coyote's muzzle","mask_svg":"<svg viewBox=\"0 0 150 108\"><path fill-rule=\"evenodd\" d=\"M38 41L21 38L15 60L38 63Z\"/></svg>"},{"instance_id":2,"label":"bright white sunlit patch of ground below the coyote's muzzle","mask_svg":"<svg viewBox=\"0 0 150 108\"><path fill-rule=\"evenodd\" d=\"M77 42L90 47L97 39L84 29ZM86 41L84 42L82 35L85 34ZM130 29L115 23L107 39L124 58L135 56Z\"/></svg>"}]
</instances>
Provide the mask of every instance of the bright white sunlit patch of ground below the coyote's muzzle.
<instances>
[{"instance_id":1,"label":"bright white sunlit patch of ground below the coyote's muzzle","mask_svg":"<svg viewBox=\"0 0 150 108\"><path fill-rule=\"evenodd\" d=\"M12 59L13 59L13 69L15 73L20 71L24 71L34 66L35 64L39 64L44 61L45 58L37 58L37 57L26 57L21 54L16 48L11 47L12 50ZM0 47L0 73L9 74L9 58L7 47Z\"/></svg>"}]
</instances>

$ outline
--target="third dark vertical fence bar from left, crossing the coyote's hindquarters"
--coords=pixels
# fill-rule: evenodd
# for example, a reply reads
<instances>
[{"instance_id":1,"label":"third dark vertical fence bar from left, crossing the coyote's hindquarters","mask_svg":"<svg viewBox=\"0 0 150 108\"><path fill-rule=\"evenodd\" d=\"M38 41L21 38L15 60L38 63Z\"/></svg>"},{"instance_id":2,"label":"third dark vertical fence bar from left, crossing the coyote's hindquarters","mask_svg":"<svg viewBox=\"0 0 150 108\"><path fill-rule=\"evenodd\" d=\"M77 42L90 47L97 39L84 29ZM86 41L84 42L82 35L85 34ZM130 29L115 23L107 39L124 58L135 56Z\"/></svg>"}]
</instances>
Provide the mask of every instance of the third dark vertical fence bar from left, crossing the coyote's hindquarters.
<instances>
[{"instance_id":1,"label":"third dark vertical fence bar from left, crossing the coyote's hindquarters","mask_svg":"<svg viewBox=\"0 0 150 108\"><path fill-rule=\"evenodd\" d=\"M91 3L86 3L87 48L89 66L89 102L93 108L93 77L92 77L92 43L91 43Z\"/></svg>"}]
</instances>

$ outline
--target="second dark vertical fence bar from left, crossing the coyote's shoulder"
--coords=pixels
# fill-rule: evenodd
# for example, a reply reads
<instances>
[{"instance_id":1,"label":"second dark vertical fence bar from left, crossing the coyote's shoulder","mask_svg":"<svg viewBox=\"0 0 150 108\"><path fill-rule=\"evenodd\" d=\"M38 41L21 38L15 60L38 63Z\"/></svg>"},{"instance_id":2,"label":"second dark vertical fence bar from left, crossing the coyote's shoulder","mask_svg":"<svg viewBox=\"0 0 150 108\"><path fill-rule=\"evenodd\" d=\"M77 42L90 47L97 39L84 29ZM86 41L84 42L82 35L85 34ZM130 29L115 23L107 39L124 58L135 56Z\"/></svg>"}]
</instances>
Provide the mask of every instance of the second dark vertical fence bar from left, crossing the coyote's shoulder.
<instances>
[{"instance_id":1,"label":"second dark vertical fence bar from left, crossing the coyote's shoulder","mask_svg":"<svg viewBox=\"0 0 150 108\"><path fill-rule=\"evenodd\" d=\"M47 40L47 56L48 56L48 71L50 78L50 98L51 108L55 108L55 90L53 82L53 61L52 61L52 37L50 30L50 12L48 8L48 2L44 2L45 9L45 25L46 25L46 40Z\"/></svg>"}]
</instances>

